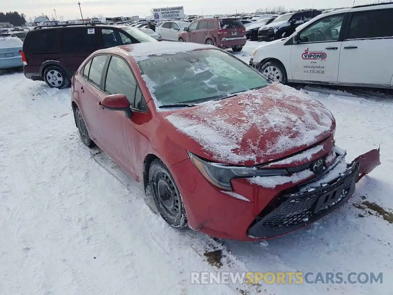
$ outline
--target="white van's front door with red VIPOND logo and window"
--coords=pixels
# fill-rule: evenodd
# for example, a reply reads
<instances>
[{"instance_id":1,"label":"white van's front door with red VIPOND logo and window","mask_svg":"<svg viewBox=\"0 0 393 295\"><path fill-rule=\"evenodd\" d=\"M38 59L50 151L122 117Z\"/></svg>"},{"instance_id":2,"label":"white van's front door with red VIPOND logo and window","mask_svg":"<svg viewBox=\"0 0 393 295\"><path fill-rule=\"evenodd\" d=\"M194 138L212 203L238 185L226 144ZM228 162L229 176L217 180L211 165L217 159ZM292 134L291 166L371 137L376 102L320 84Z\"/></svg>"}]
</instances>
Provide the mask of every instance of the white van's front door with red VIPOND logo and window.
<instances>
[{"instance_id":1,"label":"white van's front door with red VIPOND logo and window","mask_svg":"<svg viewBox=\"0 0 393 295\"><path fill-rule=\"evenodd\" d=\"M321 18L299 32L291 45L293 80L337 82L345 14Z\"/></svg>"}]
</instances>

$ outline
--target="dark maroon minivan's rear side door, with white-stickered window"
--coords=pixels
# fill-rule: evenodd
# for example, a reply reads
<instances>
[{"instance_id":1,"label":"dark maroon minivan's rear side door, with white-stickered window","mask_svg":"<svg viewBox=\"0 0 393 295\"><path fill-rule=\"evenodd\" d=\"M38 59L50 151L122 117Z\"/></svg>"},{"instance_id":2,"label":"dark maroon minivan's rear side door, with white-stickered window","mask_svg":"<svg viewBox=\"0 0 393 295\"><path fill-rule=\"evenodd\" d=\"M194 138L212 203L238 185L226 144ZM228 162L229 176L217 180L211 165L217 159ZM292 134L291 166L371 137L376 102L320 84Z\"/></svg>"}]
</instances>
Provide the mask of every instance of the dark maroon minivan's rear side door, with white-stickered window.
<instances>
[{"instance_id":1,"label":"dark maroon minivan's rear side door, with white-stickered window","mask_svg":"<svg viewBox=\"0 0 393 295\"><path fill-rule=\"evenodd\" d=\"M90 26L64 27L61 30L60 43L59 62L67 72L75 72L86 57L99 49L97 28Z\"/></svg>"}]
</instances>

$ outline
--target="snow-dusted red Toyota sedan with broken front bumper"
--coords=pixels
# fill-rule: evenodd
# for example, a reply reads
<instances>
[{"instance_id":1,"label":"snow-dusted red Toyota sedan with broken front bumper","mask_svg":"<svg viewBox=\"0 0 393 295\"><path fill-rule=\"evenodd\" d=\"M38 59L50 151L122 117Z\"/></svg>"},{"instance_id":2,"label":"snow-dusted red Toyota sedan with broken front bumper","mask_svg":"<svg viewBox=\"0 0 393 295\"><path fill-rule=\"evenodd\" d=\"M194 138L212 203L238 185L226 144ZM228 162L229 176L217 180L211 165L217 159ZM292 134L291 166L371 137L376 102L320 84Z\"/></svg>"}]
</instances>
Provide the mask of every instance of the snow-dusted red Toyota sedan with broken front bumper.
<instances>
[{"instance_id":1,"label":"snow-dusted red Toyota sedan with broken front bumper","mask_svg":"<svg viewBox=\"0 0 393 295\"><path fill-rule=\"evenodd\" d=\"M84 144L136 179L169 225L219 238L303 227L379 164L379 149L347 164L320 102L203 44L98 50L73 76L72 109Z\"/></svg>"}]
</instances>

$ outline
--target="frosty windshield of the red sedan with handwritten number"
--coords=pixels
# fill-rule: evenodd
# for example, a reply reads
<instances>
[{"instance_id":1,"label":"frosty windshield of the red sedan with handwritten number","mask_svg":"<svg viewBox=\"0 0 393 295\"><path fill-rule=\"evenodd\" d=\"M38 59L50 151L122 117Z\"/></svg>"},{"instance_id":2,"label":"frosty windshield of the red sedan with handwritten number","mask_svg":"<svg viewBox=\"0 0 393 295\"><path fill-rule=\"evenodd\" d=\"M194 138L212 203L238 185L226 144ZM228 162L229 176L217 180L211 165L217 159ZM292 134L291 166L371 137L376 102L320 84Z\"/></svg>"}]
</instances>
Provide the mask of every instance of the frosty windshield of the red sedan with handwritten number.
<instances>
[{"instance_id":1,"label":"frosty windshield of the red sedan with handwritten number","mask_svg":"<svg viewBox=\"0 0 393 295\"><path fill-rule=\"evenodd\" d=\"M259 72L216 49L152 56L138 65L158 106L202 103L268 85Z\"/></svg>"}]
</instances>

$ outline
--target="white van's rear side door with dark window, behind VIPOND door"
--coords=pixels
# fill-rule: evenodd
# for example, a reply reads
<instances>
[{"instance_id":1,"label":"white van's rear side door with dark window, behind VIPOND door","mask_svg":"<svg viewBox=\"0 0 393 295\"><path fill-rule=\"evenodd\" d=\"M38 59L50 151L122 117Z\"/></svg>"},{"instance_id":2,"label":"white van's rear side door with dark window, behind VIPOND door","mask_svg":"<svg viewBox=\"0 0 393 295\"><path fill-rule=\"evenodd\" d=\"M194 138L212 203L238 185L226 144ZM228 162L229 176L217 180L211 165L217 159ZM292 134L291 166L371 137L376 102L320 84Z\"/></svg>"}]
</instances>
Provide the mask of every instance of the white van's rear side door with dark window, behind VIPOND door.
<instances>
[{"instance_id":1,"label":"white van's rear side door with dark window, behind VIPOND door","mask_svg":"<svg viewBox=\"0 0 393 295\"><path fill-rule=\"evenodd\" d=\"M342 42L338 82L390 85L393 75L392 20L393 9L352 14L348 33Z\"/></svg>"}]
</instances>

